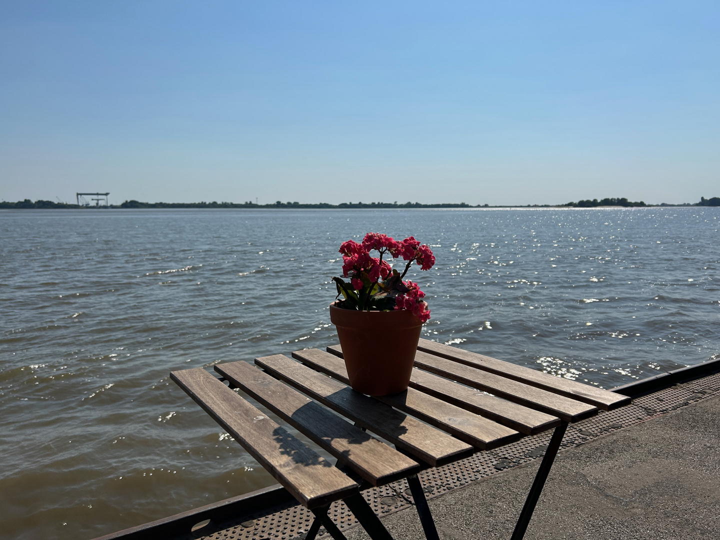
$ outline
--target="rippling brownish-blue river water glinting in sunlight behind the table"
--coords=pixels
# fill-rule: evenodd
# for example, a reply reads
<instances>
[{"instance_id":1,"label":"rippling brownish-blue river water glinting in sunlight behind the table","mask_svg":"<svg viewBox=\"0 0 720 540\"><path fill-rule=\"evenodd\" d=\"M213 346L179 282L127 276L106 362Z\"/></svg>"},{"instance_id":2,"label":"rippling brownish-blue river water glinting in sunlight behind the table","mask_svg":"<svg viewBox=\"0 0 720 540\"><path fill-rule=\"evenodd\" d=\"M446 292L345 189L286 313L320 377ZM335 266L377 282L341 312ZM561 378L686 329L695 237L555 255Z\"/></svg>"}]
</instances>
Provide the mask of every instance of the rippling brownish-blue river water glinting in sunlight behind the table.
<instances>
[{"instance_id":1,"label":"rippling brownish-blue river water glinting in sunlight behind the table","mask_svg":"<svg viewBox=\"0 0 720 540\"><path fill-rule=\"evenodd\" d=\"M720 209L0 211L0 536L274 483L168 372L336 343L341 241L428 243L424 337L600 387L720 353ZM417 267L416 267L417 268Z\"/></svg>"}]
</instances>

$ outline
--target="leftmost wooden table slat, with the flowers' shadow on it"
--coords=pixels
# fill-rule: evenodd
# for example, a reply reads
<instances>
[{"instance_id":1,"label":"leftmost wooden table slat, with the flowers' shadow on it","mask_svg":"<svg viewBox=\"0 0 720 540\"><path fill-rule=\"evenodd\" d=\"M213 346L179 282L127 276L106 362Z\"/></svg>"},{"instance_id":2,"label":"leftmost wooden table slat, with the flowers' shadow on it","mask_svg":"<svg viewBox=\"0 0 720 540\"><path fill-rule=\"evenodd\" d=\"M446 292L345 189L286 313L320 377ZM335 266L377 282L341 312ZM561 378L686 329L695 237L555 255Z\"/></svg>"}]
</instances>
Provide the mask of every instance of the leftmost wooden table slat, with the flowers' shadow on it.
<instances>
[{"instance_id":1,"label":"leftmost wooden table slat, with the flowers' shadow on it","mask_svg":"<svg viewBox=\"0 0 720 540\"><path fill-rule=\"evenodd\" d=\"M170 377L307 508L358 492L340 469L202 368Z\"/></svg>"}]
</instances>

